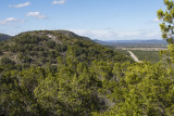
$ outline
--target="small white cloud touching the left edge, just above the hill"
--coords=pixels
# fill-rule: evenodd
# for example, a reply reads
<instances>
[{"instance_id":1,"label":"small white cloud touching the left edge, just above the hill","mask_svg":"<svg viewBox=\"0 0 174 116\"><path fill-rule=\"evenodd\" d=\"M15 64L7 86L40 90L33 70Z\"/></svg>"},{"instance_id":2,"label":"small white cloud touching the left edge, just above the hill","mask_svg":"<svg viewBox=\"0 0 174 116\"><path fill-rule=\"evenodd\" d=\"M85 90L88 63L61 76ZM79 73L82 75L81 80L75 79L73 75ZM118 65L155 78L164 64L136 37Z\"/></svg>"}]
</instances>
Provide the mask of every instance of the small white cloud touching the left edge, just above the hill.
<instances>
[{"instance_id":1,"label":"small white cloud touching the left edge, just above the hill","mask_svg":"<svg viewBox=\"0 0 174 116\"><path fill-rule=\"evenodd\" d=\"M9 18L5 18L3 21L0 21L0 25L8 25L8 24L14 23L14 22L23 23L24 21L17 20L15 17L9 17Z\"/></svg>"}]
</instances>

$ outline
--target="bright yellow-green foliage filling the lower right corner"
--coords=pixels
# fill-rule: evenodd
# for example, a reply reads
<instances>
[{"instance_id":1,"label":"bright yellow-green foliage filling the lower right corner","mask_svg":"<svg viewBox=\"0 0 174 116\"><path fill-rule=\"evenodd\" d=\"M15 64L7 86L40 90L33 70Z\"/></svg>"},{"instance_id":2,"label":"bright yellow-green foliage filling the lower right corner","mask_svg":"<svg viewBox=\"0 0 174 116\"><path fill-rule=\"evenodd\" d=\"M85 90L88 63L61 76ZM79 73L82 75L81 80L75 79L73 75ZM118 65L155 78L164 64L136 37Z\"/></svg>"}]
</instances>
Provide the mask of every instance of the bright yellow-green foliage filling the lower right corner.
<instances>
[{"instance_id":1,"label":"bright yellow-green foliage filling the lower right corner","mask_svg":"<svg viewBox=\"0 0 174 116\"><path fill-rule=\"evenodd\" d=\"M161 64L149 63L119 67L125 70L120 79L115 80L113 93L109 98L115 104L104 115L174 115L173 76ZM117 68L117 65L115 65ZM121 72L117 72L119 74ZM117 74L116 73L116 74ZM119 75L117 74L117 75ZM171 77L172 76L172 77ZM117 82L117 85L116 85Z\"/></svg>"}]
</instances>

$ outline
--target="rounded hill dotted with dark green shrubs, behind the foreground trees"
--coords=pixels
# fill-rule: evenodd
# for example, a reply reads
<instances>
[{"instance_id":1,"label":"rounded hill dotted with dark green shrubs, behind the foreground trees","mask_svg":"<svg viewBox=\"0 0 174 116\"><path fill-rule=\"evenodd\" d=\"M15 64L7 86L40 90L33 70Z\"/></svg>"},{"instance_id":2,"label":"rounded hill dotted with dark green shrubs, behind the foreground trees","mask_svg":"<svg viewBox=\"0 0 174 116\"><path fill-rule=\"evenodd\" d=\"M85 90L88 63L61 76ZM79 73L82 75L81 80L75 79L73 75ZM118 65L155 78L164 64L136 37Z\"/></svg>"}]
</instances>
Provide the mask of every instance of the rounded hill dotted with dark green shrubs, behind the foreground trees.
<instances>
[{"instance_id":1,"label":"rounded hill dotted with dark green shrubs, behind the foreground trees","mask_svg":"<svg viewBox=\"0 0 174 116\"><path fill-rule=\"evenodd\" d=\"M94 60L132 61L130 57L67 30L27 31L0 42L1 65L7 63L22 67L57 65L58 57L65 59L69 55L74 55L87 64Z\"/></svg>"}]
</instances>

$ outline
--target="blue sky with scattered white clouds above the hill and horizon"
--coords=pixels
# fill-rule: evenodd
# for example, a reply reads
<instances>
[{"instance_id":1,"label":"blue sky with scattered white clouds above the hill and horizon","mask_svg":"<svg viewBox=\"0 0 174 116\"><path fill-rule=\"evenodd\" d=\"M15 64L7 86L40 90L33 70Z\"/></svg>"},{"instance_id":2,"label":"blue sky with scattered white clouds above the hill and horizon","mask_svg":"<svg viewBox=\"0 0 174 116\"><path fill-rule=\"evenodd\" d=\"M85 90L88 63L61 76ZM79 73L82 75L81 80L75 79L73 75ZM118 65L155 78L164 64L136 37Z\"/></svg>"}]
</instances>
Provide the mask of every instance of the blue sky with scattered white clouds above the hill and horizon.
<instances>
[{"instance_id":1,"label":"blue sky with scattered white clouds above the hill and horizon","mask_svg":"<svg viewBox=\"0 0 174 116\"><path fill-rule=\"evenodd\" d=\"M0 0L0 33L71 30L99 40L161 39L163 0Z\"/></svg>"}]
</instances>

